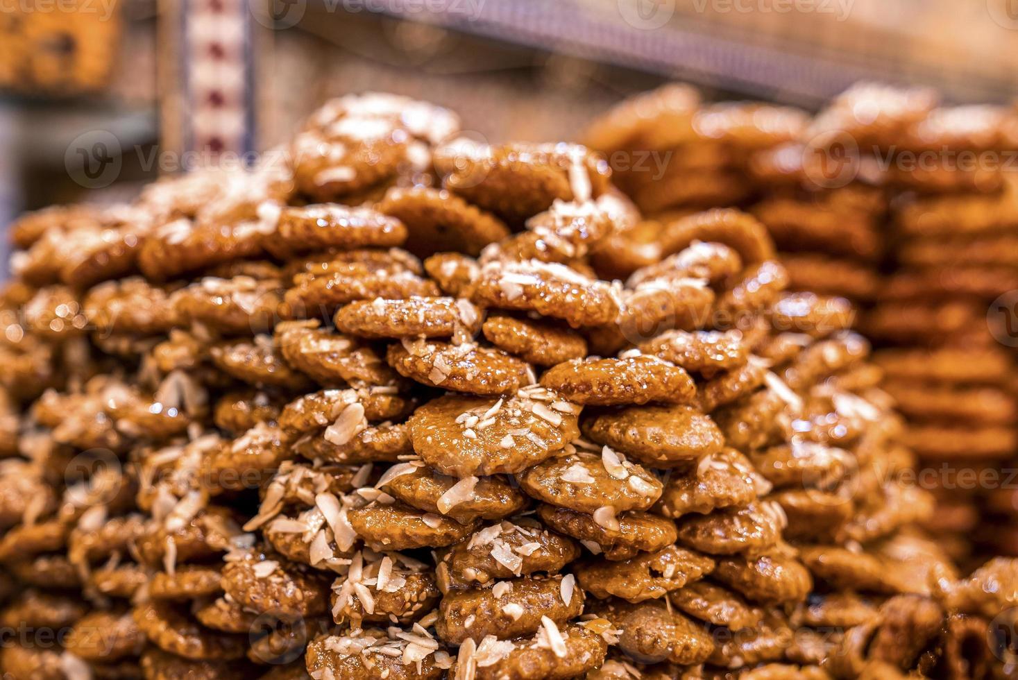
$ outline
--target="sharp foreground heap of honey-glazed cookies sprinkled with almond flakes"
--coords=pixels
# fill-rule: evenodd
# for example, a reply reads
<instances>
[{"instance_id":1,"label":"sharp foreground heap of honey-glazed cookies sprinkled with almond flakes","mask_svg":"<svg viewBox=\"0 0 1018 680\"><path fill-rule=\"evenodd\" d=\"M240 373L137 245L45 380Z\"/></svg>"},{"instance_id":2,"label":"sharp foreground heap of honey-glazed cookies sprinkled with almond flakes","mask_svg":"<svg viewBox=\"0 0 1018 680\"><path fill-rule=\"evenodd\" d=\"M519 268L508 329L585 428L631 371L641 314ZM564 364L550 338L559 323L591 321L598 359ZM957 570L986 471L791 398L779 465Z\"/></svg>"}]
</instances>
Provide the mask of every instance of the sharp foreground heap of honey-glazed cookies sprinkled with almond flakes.
<instances>
[{"instance_id":1,"label":"sharp foreground heap of honey-glazed cookies sprinkled with almond flakes","mask_svg":"<svg viewBox=\"0 0 1018 680\"><path fill-rule=\"evenodd\" d=\"M344 97L285 164L12 225L5 677L1014 675L1018 563L917 530L845 300L456 130Z\"/></svg>"}]
</instances>

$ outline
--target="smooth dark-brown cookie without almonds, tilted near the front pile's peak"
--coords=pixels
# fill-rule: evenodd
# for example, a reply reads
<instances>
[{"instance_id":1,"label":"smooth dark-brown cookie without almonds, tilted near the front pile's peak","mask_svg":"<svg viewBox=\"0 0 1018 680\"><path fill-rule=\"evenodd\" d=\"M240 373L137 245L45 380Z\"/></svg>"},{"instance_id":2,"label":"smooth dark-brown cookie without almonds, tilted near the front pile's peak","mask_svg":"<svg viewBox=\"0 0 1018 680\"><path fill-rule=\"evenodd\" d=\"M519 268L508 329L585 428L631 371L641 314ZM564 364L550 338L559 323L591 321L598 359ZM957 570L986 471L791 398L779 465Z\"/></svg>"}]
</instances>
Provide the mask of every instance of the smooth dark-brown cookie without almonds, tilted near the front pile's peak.
<instances>
[{"instance_id":1,"label":"smooth dark-brown cookie without almonds, tilted near the front pile's peak","mask_svg":"<svg viewBox=\"0 0 1018 680\"><path fill-rule=\"evenodd\" d=\"M509 235L502 220L445 189L396 187L378 210L407 226L406 247L421 258L440 250L476 257L489 243Z\"/></svg>"}]
</instances>

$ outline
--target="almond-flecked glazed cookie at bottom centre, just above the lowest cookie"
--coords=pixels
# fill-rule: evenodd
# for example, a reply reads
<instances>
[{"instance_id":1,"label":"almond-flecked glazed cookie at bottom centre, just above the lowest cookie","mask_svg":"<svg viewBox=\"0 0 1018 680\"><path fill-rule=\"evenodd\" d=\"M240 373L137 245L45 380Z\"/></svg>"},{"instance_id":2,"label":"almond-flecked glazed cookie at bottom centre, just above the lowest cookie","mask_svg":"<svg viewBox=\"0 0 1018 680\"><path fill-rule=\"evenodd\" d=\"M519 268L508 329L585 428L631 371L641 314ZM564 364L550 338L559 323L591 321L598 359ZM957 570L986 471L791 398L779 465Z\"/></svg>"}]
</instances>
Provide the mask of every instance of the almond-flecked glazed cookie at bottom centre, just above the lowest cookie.
<instances>
[{"instance_id":1,"label":"almond-flecked glazed cookie at bottom centre, just above the lowest cookie","mask_svg":"<svg viewBox=\"0 0 1018 680\"><path fill-rule=\"evenodd\" d=\"M536 632L545 618L563 623L579 616L583 601L572 574L512 578L499 581L498 589L450 590L442 598L435 630L452 644L488 635L508 639Z\"/></svg>"}]
</instances>

